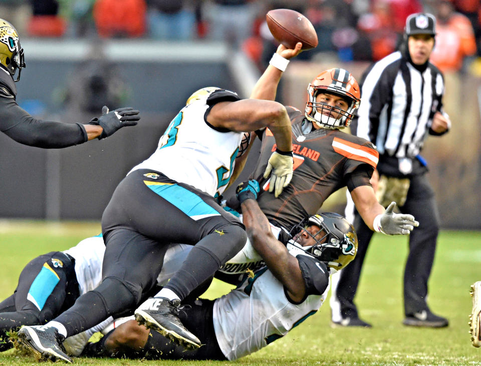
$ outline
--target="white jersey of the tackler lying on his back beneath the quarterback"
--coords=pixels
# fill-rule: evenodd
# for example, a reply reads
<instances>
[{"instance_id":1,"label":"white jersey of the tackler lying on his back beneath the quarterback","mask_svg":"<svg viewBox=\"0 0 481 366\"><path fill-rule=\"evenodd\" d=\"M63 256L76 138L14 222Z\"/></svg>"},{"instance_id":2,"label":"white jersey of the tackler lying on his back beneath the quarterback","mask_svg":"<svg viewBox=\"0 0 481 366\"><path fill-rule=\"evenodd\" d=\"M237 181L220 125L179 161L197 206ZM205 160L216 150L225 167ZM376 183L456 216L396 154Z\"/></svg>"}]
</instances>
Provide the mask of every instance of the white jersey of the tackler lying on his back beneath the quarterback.
<instances>
[{"instance_id":1,"label":"white jersey of the tackler lying on his back beneath the quarterback","mask_svg":"<svg viewBox=\"0 0 481 366\"><path fill-rule=\"evenodd\" d=\"M228 360L255 352L287 334L317 312L329 291L328 286L322 295L309 295L295 305L267 268L261 272L214 303L215 336Z\"/></svg>"}]
</instances>

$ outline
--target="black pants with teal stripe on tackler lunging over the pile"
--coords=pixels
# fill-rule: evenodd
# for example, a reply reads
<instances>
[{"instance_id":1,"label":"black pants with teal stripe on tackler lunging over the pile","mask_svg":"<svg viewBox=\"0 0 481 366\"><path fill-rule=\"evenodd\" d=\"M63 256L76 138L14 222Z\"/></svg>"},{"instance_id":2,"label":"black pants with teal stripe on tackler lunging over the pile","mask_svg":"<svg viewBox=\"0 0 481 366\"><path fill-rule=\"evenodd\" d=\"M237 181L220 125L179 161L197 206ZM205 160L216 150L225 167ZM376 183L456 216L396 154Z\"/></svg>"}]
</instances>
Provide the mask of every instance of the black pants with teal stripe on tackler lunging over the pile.
<instances>
[{"instance_id":1,"label":"black pants with teal stripe on tackler lunging over the pile","mask_svg":"<svg viewBox=\"0 0 481 366\"><path fill-rule=\"evenodd\" d=\"M145 169L117 186L102 216L102 232L102 283L54 319L69 336L134 310L156 285L169 243L194 246L165 286L182 300L247 240L238 218L211 196Z\"/></svg>"}]
</instances>

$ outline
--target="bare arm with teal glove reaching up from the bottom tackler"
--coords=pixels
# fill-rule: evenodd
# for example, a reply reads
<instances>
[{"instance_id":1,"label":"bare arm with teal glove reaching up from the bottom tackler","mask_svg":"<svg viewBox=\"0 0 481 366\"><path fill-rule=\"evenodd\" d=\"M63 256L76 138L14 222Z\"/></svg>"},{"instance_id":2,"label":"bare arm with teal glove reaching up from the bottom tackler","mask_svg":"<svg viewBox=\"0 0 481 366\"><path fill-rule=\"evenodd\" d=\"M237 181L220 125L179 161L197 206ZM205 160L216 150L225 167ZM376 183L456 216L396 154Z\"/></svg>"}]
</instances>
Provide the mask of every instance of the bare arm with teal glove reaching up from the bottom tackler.
<instances>
[{"instance_id":1,"label":"bare arm with teal glove reaching up from the bottom tackler","mask_svg":"<svg viewBox=\"0 0 481 366\"><path fill-rule=\"evenodd\" d=\"M240 183L236 189L247 234L269 270L284 285L291 300L301 301L306 285L299 262L273 235L271 225L256 201L259 191L259 183L253 180Z\"/></svg>"}]
</instances>

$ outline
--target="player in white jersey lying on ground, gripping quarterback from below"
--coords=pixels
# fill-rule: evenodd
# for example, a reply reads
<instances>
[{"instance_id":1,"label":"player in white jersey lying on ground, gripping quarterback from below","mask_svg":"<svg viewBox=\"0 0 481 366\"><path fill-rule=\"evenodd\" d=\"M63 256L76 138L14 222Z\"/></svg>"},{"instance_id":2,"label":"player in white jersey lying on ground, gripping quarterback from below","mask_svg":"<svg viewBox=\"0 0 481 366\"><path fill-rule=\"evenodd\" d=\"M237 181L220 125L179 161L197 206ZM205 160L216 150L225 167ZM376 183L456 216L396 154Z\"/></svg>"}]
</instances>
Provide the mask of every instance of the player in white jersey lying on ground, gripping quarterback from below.
<instances>
[{"instance_id":1,"label":"player in white jersey lying on ground, gripping quarterback from below","mask_svg":"<svg viewBox=\"0 0 481 366\"><path fill-rule=\"evenodd\" d=\"M185 350L127 320L100 342L89 344L86 355L234 360L265 347L316 313L329 288L330 268L346 266L356 254L352 225L334 213L310 216L283 243L272 234L256 202L256 183L242 183L237 196L249 239L266 267L254 276L245 275L229 294L214 301L191 301L180 311L182 322L202 346Z\"/></svg>"}]
</instances>

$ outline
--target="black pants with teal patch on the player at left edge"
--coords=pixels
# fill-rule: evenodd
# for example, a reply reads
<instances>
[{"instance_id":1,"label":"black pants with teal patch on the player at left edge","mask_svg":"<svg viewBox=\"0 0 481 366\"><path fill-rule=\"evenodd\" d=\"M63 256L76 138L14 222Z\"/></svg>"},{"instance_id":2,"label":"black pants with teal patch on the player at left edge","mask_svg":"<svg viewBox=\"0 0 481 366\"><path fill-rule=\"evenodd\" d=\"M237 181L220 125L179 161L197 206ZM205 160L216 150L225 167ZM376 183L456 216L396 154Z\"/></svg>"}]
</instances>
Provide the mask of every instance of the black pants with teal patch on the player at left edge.
<instances>
[{"instance_id":1,"label":"black pants with teal patch on the player at left edge","mask_svg":"<svg viewBox=\"0 0 481 366\"><path fill-rule=\"evenodd\" d=\"M15 292L0 302L0 351L13 345L6 338L8 331L45 324L79 295L73 258L62 252L34 258L20 273Z\"/></svg>"}]
</instances>

